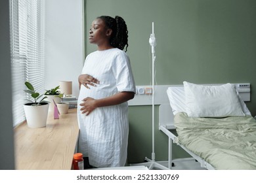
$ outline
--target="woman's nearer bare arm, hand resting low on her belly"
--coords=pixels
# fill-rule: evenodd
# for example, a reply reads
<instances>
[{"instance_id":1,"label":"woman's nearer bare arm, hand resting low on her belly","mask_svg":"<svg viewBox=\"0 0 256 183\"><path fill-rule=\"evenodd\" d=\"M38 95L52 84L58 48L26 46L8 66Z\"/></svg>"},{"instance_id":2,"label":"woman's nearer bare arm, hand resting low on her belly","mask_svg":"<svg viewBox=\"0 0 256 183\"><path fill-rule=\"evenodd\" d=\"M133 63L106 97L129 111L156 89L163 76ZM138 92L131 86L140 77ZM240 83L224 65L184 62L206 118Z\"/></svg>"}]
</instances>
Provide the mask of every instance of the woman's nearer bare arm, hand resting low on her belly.
<instances>
[{"instance_id":1,"label":"woman's nearer bare arm, hand resting low on her belly","mask_svg":"<svg viewBox=\"0 0 256 183\"><path fill-rule=\"evenodd\" d=\"M89 115L93 110L95 110L95 108L119 105L133 99L134 95L134 92L119 92L103 99L93 99L91 97L87 97L83 99L83 103L80 104L82 106L80 110L82 113Z\"/></svg>"}]
</instances>

